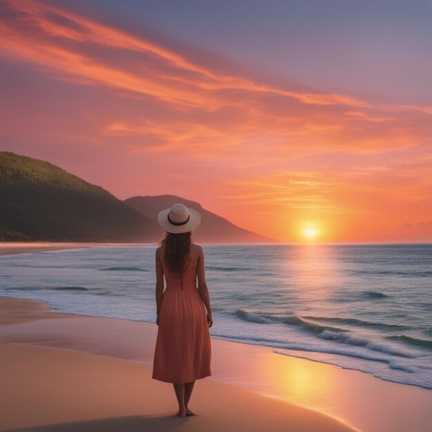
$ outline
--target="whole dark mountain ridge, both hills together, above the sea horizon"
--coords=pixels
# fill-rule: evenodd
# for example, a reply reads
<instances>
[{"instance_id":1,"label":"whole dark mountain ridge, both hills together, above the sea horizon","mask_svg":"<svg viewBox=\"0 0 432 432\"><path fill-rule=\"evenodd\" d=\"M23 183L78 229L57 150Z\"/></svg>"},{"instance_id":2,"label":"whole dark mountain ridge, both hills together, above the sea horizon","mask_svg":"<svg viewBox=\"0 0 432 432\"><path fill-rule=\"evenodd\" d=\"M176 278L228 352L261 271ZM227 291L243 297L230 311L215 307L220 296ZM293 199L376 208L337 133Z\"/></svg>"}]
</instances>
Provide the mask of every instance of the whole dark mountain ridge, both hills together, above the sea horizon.
<instances>
[{"instance_id":1,"label":"whole dark mountain ridge, both hills together, above the sea horizon","mask_svg":"<svg viewBox=\"0 0 432 432\"><path fill-rule=\"evenodd\" d=\"M0 241L158 243L157 213L181 202L202 215L197 242L275 243L175 195L124 202L47 161L0 152Z\"/></svg>"}]
</instances>

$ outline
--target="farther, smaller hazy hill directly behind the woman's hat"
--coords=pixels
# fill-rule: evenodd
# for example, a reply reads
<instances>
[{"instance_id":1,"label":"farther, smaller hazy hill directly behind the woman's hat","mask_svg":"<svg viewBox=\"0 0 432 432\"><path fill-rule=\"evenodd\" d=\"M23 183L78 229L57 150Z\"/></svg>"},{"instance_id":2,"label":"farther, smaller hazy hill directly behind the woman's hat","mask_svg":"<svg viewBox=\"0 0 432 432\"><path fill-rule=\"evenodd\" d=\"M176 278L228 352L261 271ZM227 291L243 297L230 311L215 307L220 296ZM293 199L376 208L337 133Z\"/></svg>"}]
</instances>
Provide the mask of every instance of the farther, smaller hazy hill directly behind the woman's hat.
<instances>
[{"instance_id":1,"label":"farther, smaller hazy hill directly behind the woman's hat","mask_svg":"<svg viewBox=\"0 0 432 432\"><path fill-rule=\"evenodd\" d=\"M169 208L173 204L181 203L186 207L195 208L201 214L201 224L193 232L194 239L197 242L204 243L278 243L278 240L270 237L264 237L253 233L252 231L245 230L239 226L229 222L224 217L220 217L215 213L202 208L201 204L194 201L189 201L176 195L156 195L153 197L131 197L125 199L124 202L135 208L136 210L152 219L157 221L157 213L164 208ZM159 235L162 237L164 231L159 229Z\"/></svg>"}]
</instances>

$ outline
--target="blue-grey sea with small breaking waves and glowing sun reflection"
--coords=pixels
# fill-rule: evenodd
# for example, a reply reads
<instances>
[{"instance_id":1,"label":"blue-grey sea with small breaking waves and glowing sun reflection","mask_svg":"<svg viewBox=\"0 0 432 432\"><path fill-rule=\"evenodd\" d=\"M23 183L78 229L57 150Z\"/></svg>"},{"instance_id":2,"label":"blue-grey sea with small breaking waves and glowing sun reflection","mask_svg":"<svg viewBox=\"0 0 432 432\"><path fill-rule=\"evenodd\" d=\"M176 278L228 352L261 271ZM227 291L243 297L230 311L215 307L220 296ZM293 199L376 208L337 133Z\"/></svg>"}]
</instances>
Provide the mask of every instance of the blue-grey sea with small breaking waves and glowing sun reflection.
<instances>
[{"instance_id":1,"label":"blue-grey sea with small breaking waves and glowing sun reflection","mask_svg":"<svg viewBox=\"0 0 432 432\"><path fill-rule=\"evenodd\" d=\"M155 248L3 255L0 295L155 322ZM203 248L212 337L432 389L431 244Z\"/></svg>"}]
</instances>

